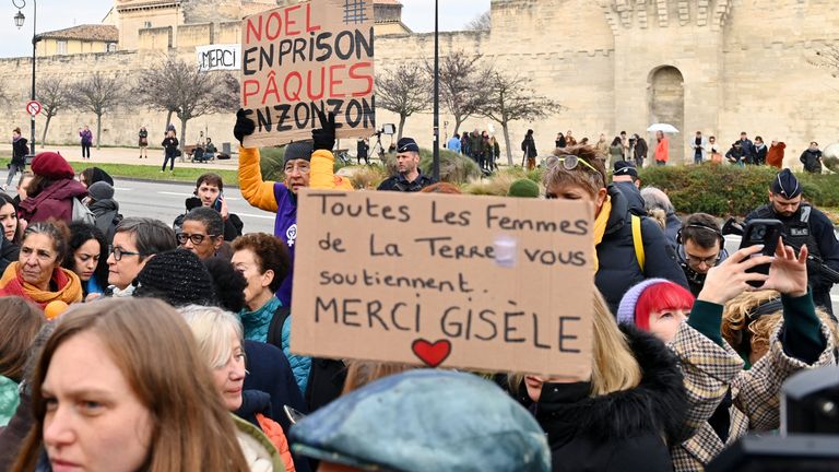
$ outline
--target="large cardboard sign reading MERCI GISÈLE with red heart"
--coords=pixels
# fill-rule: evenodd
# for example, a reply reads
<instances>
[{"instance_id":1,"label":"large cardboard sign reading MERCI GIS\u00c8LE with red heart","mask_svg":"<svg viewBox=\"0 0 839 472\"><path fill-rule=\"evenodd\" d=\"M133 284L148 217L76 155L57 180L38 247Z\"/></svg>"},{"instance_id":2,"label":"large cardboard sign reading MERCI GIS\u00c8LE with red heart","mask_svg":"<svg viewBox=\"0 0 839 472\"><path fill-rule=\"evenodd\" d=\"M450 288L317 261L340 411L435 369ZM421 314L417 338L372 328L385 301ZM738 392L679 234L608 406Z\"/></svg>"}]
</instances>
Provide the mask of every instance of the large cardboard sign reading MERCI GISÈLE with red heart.
<instances>
[{"instance_id":1,"label":"large cardboard sign reading MERCI GIS\u00c8LE with red heart","mask_svg":"<svg viewBox=\"0 0 839 472\"><path fill-rule=\"evenodd\" d=\"M589 203L302 190L292 352L588 378Z\"/></svg>"}]
</instances>

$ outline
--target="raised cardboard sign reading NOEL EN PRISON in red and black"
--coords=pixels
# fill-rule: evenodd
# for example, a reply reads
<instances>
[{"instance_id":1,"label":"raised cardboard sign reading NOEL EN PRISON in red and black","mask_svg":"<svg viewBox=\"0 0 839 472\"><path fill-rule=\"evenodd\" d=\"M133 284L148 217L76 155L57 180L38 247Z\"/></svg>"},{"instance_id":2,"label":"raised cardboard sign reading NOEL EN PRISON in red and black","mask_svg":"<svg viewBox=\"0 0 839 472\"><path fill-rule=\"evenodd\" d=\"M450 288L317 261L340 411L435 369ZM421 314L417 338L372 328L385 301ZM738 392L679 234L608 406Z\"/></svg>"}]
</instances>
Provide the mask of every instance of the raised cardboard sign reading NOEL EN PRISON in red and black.
<instances>
[{"instance_id":1,"label":"raised cardboard sign reading NOEL EN PRISON in red and black","mask_svg":"<svg viewBox=\"0 0 839 472\"><path fill-rule=\"evenodd\" d=\"M256 132L245 146L311 138L318 110L334 113L338 138L376 129L373 1L311 0L241 24L241 107Z\"/></svg>"}]
</instances>

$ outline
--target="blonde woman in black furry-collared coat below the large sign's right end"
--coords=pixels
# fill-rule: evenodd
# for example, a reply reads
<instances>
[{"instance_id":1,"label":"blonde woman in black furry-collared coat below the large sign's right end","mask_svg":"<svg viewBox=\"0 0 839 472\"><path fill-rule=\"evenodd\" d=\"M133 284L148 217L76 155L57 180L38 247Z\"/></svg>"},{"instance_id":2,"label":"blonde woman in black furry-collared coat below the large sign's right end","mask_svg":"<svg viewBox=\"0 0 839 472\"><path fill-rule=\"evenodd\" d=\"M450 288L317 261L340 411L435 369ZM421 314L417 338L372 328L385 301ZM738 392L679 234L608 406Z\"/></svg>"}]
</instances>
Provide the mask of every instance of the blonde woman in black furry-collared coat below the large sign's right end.
<instances>
[{"instance_id":1,"label":"blonde woman in black furry-collared coat below the large sign's right end","mask_svg":"<svg viewBox=\"0 0 839 472\"><path fill-rule=\"evenodd\" d=\"M594 295L589 381L513 376L547 433L554 471L672 471L669 446L684 437L687 398L675 356L634 327L618 329Z\"/></svg>"}]
</instances>

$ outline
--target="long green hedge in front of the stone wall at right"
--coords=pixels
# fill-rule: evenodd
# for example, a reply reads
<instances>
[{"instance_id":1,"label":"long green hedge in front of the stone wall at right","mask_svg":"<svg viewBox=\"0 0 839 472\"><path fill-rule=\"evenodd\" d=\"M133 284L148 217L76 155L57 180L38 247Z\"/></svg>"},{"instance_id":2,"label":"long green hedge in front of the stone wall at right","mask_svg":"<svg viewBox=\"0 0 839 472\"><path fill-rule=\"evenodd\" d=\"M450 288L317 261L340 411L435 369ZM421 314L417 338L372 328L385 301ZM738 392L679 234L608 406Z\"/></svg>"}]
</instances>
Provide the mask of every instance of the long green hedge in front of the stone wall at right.
<instances>
[{"instance_id":1,"label":"long green hedge in front of the stone wall at right","mask_svg":"<svg viewBox=\"0 0 839 472\"><path fill-rule=\"evenodd\" d=\"M643 186L664 190L680 213L705 212L718 216L744 216L767 202L769 185L778 169L765 166L647 167ZM839 206L839 175L796 174L804 198L816 206Z\"/></svg>"}]
</instances>

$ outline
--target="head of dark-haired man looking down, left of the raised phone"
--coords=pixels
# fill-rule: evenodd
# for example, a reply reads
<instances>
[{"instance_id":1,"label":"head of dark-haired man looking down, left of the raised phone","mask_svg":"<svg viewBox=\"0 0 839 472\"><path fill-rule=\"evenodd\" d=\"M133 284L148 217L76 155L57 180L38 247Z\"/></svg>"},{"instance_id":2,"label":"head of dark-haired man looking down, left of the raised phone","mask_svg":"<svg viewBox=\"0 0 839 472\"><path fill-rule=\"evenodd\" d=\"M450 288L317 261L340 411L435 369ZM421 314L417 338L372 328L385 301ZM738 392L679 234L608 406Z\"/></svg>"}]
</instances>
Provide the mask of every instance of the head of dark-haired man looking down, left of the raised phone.
<instances>
[{"instance_id":1,"label":"head of dark-haired man looking down, left of the raised phone","mask_svg":"<svg viewBox=\"0 0 839 472\"><path fill-rule=\"evenodd\" d=\"M685 219L676 240L678 264L685 272L690 293L698 296L708 271L729 257L725 238L717 219L707 213L694 213Z\"/></svg>"}]
</instances>

